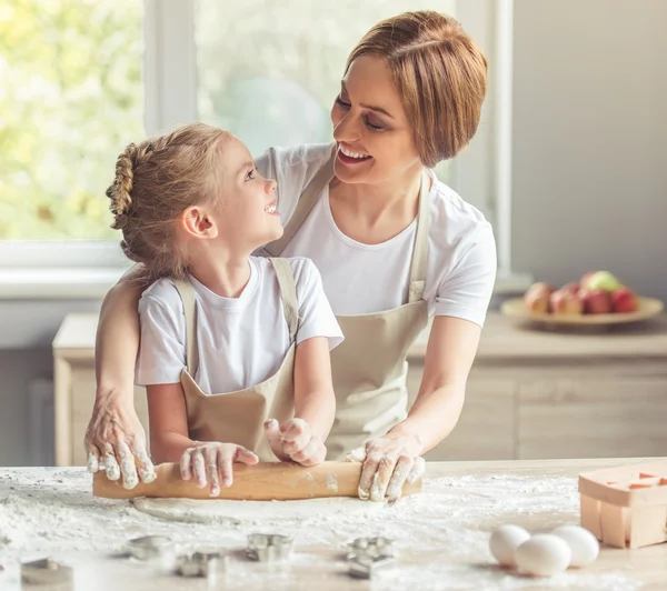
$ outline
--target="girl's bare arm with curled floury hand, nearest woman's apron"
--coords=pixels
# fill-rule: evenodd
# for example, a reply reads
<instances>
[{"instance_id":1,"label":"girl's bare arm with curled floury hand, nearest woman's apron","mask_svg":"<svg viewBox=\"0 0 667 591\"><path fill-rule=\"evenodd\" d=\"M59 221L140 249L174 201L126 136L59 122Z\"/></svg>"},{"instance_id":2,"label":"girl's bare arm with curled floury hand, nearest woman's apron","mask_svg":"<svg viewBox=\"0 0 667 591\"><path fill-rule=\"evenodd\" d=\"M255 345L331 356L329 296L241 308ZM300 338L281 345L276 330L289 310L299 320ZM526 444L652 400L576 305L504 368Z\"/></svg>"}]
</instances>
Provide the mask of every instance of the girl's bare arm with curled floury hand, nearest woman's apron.
<instances>
[{"instance_id":1,"label":"girl's bare arm with curled floury hand, nearest woman's apron","mask_svg":"<svg viewBox=\"0 0 667 591\"><path fill-rule=\"evenodd\" d=\"M335 414L329 340L307 339L295 352L295 419L280 427L271 422L267 428L273 453L303 465L322 462Z\"/></svg>"}]
</instances>

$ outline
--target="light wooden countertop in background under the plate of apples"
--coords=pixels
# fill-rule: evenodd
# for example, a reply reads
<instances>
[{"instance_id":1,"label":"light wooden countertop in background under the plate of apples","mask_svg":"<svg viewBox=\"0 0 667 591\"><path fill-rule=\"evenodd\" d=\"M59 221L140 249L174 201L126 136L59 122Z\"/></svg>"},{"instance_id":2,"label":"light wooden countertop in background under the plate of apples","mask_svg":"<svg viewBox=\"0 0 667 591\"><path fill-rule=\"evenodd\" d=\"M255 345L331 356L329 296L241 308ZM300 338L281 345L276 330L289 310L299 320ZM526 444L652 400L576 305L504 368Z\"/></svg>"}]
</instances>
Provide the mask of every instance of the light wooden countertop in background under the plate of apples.
<instances>
[{"instance_id":1,"label":"light wooden countertop in background under the plate of apples","mask_svg":"<svg viewBox=\"0 0 667 591\"><path fill-rule=\"evenodd\" d=\"M56 354L92 359L97 324L97 314L69 314L53 340ZM408 360L422 360L427 342L428 329L410 349ZM667 314L605 332L568 333L521 328L498 312L489 312L476 364L509 359L638 355L667 360Z\"/></svg>"}]
</instances>

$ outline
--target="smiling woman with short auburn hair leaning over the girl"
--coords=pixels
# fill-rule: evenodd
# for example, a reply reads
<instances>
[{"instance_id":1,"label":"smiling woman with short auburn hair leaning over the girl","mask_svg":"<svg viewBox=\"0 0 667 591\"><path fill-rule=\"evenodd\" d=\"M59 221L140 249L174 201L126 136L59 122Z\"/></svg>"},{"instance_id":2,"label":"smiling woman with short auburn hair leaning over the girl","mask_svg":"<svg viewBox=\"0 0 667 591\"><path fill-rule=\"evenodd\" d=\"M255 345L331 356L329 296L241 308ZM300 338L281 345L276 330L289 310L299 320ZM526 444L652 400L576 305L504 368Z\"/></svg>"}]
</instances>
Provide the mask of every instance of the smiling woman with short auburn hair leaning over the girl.
<instances>
[{"instance_id":1,"label":"smiling woman with short auburn hair leaning over the girl","mask_svg":"<svg viewBox=\"0 0 667 591\"><path fill-rule=\"evenodd\" d=\"M477 130L487 62L451 18L408 12L352 50L331 109L332 146L270 149L285 223L270 256L307 257L345 334L331 353L336 420L328 459L362 448L359 497L400 495L421 455L455 428L496 277L488 221L430 168ZM98 391L86 445L104 465L133 454L153 478L132 405L141 290L123 278L104 299ZM435 317L422 381L407 411L406 354Z\"/></svg>"}]
</instances>

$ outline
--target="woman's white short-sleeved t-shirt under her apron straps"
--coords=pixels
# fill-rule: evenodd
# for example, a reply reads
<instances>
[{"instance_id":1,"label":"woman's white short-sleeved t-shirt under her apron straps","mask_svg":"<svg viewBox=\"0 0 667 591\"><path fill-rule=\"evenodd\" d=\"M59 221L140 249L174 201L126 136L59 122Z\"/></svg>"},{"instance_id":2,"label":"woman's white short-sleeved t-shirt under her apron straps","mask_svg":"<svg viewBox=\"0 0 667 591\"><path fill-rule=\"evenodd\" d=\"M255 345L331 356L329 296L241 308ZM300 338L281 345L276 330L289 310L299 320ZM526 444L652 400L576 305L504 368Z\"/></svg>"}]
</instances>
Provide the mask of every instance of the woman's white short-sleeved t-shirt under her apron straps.
<instances>
[{"instance_id":1,"label":"woman's white short-sleeved t-shirt under her apron straps","mask_svg":"<svg viewBox=\"0 0 667 591\"><path fill-rule=\"evenodd\" d=\"M331 153L331 144L270 148L256 166L278 182L278 211L287 224L299 196ZM484 325L496 280L496 241L482 213L440 182L431 170L428 263L424 298L429 314ZM319 269L336 314L362 314L408 301L416 220L380 244L344 234L331 216L329 188L281 253L308 257Z\"/></svg>"}]
</instances>

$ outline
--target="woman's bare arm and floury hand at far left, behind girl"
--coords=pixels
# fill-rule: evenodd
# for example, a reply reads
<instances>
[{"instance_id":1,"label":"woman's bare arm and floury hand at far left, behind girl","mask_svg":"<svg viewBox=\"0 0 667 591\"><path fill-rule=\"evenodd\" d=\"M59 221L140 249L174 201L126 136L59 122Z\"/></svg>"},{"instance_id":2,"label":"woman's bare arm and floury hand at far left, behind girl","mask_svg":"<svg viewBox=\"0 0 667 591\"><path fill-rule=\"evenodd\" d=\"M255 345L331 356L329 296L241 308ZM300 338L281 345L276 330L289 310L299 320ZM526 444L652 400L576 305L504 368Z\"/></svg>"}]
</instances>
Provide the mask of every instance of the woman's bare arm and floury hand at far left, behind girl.
<instances>
[{"instance_id":1,"label":"woman's bare arm and floury hand at far left, behind girl","mask_svg":"<svg viewBox=\"0 0 667 591\"><path fill-rule=\"evenodd\" d=\"M96 472L101 464L111 480L122 475L123 485L130 489L138 479L151 482L156 478L135 410L137 308L146 287L138 281L141 272L140 266L132 267L102 302L94 352L97 391L84 440L89 469Z\"/></svg>"}]
</instances>

